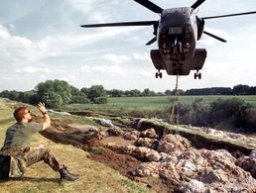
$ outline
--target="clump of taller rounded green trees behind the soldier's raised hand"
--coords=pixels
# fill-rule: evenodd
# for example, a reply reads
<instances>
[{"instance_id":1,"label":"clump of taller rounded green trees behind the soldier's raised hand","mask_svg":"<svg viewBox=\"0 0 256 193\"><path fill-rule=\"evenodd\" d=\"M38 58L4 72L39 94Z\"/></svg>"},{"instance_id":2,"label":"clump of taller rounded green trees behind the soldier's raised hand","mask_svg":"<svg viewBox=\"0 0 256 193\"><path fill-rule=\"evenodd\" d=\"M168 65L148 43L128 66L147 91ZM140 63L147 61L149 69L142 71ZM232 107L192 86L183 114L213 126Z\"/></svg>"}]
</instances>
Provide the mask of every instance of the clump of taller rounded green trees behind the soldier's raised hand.
<instances>
[{"instance_id":1,"label":"clump of taller rounded green trees behind the soldier's raised hand","mask_svg":"<svg viewBox=\"0 0 256 193\"><path fill-rule=\"evenodd\" d=\"M71 103L107 103L107 93L102 85L78 89L64 80L47 80L39 83L31 91L4 90L0 93L0 97L29 104L44 101L50 108L60 108Z\"/></svg>"}]
</instances>

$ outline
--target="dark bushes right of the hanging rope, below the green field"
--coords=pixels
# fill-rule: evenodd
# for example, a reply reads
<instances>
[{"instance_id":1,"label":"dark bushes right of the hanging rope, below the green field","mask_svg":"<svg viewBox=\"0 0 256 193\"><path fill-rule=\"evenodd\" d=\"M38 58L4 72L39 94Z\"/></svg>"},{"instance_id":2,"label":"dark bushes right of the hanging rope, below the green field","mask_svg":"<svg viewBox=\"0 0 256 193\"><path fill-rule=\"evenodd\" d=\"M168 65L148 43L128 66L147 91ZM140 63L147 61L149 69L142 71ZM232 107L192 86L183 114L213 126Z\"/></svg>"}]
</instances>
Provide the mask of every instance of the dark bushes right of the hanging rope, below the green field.
<instances>
[{"instance_id":1,"label":"dark bushes right of the hanging rope, below the green field","mask_svg":"<svg viewBox=\"0 0 256 193\"><path fill-rule=\"evenodd\" d=\"M172 99L171 99L172 100ZM167 113L172 112L172 107ZM218 98L209 105L195 99L192 105L179 104L180 124L197 127L219 126L225 129L243 129L256 132L256 108L239 98Z\"/></svg>"}]
</instances>

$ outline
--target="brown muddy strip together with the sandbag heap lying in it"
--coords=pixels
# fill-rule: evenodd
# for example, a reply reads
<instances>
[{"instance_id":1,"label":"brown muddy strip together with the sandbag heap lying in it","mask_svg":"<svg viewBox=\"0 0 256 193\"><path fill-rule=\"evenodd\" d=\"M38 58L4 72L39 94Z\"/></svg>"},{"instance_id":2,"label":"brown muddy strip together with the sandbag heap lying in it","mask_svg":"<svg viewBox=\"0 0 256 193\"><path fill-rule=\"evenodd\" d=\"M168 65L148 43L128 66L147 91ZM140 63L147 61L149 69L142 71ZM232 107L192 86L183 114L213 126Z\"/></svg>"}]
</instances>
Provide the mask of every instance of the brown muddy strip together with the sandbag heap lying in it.
<instances>
[{"instance_id":1,"label":"brown muddy strip together with the sandbag heap lying in it","mask_svg":"<svg viewBox=\"0 0 256 193\"><path fill-rule=\"evenodd\" d=\"M199 138L195 143L192 136L190 140L181 135L163 136L162 130L151 127L122 130L53 120L53 128L42 135L89 151L91 159L156 192L256 191L254 151L248 156L250 150L243 147L217 146Z\"/></svg>"}]
</instances>

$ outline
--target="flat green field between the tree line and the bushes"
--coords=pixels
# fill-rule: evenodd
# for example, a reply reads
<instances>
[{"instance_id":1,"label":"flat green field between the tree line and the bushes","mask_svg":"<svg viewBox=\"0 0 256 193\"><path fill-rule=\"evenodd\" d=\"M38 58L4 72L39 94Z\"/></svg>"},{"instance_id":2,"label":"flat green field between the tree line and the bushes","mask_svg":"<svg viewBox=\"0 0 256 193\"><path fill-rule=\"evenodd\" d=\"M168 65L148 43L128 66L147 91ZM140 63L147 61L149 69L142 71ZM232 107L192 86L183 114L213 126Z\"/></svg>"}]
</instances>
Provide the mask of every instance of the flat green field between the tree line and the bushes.
<instances>
[{"instance_id":1,"label":"flat green field between the tree line and the bushes","mask_svg":"<svg viewBox=\"0 0 256 193\"><path fill-rule=\"evenodd\" d=\"M71 104L65 107L66 111L97 111L107 112L112 114L128 115L130 112L142 112L142 111L163 111L168 109L173 102L171 102L173 96L156 96L156 97L114 97L108 98L107 104ZM180 96L179 101L183 104L191 105L196 99L202 99L203 104L209 104L210 102L222 98L240 98L246 103L249 103L256 107L256 96Z\"/></svg>"}]
</instances>

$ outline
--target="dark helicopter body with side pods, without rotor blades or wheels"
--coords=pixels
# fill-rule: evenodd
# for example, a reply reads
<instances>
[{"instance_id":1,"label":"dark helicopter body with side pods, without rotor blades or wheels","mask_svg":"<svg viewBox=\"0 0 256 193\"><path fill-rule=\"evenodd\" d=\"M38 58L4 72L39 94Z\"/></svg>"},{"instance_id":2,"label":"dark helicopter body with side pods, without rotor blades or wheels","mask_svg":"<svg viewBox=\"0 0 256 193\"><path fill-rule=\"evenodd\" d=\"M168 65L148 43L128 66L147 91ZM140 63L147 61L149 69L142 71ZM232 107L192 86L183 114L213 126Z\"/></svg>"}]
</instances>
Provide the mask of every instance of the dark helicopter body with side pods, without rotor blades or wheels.
<instances>
[{"instance_id":1,"label":"dark helicopter body with side pods, without rotor blades or wheels","mask_svg":"<svg viewBox=\"0 0 256 193\"><path fill-rule=\"evenodd\" d=\"M198 24L201 23L191 7L162 12L157 33L159 49L151 50L152 61L159 71L165 69L170 75L188 75L192 69L201 69L206 50L195 48L203 31L203 26Z\"/></svg>"}]
</instances>

